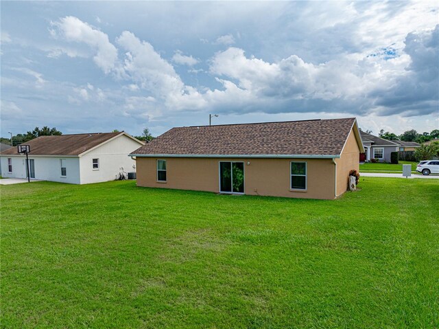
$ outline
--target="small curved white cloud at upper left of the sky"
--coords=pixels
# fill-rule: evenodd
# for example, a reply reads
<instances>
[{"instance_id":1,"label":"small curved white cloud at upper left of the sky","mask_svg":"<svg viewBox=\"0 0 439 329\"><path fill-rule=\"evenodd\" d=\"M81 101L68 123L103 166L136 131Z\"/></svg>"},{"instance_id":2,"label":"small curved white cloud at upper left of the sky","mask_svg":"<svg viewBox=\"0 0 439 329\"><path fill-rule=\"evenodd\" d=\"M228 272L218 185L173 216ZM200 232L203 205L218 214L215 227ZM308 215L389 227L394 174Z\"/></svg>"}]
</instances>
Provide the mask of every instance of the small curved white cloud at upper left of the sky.
<instances>
[{"instance_id":1,"label":"small curved white cloud at upper left of the sky","mask_svg":"<svg viewBox=\"0 0 439 329\"><path fill-rule=\"evenodd\" d=\"M110 73L115 68L117 49L108 40L108 35L84 23L74 16L66 16L57 22L51 23L58 30L52 34L60 34L67 41L86 43L95 51L93 60L105 73Z\"/></svg>"}]
</instances>

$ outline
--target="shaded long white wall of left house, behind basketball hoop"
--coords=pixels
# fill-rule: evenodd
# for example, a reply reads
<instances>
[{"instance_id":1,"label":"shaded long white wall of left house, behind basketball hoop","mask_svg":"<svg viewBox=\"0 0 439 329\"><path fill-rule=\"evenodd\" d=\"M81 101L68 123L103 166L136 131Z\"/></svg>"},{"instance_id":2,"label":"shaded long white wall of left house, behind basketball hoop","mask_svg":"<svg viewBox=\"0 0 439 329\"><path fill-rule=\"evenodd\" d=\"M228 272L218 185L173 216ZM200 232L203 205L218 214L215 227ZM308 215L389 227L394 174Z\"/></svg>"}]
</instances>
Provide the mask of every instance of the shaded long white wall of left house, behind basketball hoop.
<instances>
[{"instance_id":1,"label":"shaded long white wall of left house, behind basketball hoop","mask_svg":"<svg viewBox=\"0 0 439 329\"><path fill-rule=\"evenodd\" d=\"M12 158L12 173L8 172L8 157ZM60 183L80 183L80 166L78 157L32 157L34 159L35 179L43 181L58 181ZM67 176L61 177L61 161L65 159ZM26 173L26 157L19 156L2 156L1 166L6 168L3 170L2 177L7 178L27 178Z\"/></svg>"}]
</instances>

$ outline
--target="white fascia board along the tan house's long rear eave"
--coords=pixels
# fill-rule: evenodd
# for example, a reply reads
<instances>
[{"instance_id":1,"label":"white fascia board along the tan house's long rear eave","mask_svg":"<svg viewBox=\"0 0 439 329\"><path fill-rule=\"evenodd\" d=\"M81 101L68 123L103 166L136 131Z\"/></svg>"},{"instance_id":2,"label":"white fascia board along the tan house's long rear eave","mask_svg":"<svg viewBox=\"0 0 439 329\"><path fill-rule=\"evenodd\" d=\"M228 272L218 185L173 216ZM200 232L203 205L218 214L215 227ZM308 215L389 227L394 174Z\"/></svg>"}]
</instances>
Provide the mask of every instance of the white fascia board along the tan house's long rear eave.
<instances>
[{"instance_id":1,"label":"white fascia board along the tan house's long rear eave","mask_svg":"<svg viewBox=\"0 0 439 329\"><path fill-rule=\"evenodd\" d=\"M272 159L335 159L340 155L138 155L130 154L129 157L168 157L168 158L272 158Z\"/></svg>"}]
</instances>

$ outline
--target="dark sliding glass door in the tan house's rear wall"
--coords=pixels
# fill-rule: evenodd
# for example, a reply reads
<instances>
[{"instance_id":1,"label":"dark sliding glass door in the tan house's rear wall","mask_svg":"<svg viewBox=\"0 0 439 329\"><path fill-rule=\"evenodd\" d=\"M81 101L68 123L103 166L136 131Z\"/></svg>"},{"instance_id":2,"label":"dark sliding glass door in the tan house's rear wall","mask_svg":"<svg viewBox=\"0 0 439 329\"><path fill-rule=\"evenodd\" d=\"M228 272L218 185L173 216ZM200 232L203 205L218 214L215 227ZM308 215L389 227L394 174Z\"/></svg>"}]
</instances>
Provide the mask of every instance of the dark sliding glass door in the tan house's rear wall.
<instances>
[{"instance_id":1,"label":"dark sliding glass door in the tan house's rear wall","mask_svg":"<svg viewBox=\"0 0 439 329\"><path fill-rule=\"evenodd\" d=\"M244 193L244 162L219 162L219 192Z\"/></svg>"}]
</instances>

